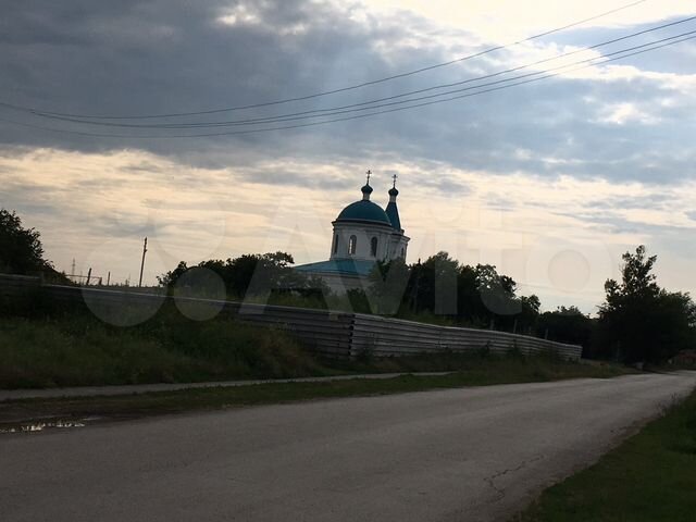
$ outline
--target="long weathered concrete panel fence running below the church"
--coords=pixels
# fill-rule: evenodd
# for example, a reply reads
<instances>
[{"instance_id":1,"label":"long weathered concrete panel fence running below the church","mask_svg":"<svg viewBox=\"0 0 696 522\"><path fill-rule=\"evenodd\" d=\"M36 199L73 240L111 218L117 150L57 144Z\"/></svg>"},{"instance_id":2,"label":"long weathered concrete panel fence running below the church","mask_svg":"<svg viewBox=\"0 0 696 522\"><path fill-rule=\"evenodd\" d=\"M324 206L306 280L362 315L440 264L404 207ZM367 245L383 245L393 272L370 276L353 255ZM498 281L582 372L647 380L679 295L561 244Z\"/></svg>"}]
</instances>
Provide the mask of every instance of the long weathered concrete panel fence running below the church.
<instances>
[{"instance_id":1,"label":"long weathered concrete panel fence running below the church","mask_svg":"<svg viewBox=\"0 0 696 522\"><path fill-rule=\"evenodd\" d=\"M0 274L0 299L10 303L26 296L40 295L65 303L84 302L100 319L119 325L136 324L153 315L165 300L164 293L141 293L137 288L111 290L42 284L38 277ZM459 328L387 319L378 315L314 310L294 307L253 304L212 299L175 299L179 309L198 307L252 324L277 327L295 336L308 349L327 357L355 358L361 353L375 357L436 352L489 350L505 353L554 352L577 360L582 347L525 335L488 330Z\"/></svg>"}]
</instances>

